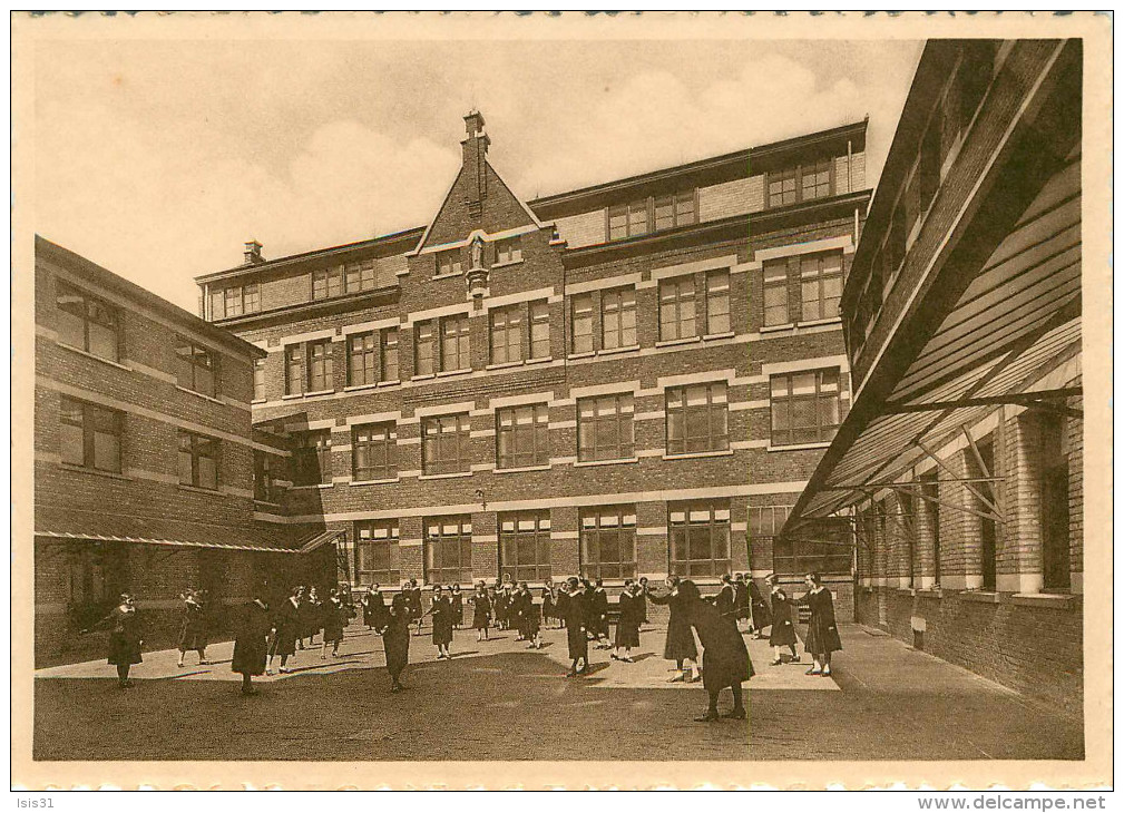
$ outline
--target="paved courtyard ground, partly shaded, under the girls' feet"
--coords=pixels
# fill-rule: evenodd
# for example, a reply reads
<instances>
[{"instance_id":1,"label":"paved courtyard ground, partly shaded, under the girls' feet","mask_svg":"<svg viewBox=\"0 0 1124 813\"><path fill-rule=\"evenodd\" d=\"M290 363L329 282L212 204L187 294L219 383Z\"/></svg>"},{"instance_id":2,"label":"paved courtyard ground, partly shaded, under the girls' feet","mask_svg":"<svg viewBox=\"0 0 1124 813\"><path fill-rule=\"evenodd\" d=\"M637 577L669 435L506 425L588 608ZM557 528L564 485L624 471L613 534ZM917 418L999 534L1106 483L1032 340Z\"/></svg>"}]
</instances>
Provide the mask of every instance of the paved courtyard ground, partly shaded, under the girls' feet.
<instances>
[{"instance_id":1,"label":"paved courtyard ground, partly shaded, under the girls' feet","mask_svg":"<svg viewBox=\"0 0 1124 813\"><path fill-rule=\"evenodd\" d=\"M1079 759L1078 721L862 627L843 630L832 678L770 667L749 640L758 676L750 720L695 723L700 685L669 684L664 631L642 635L636 663L591 650L593 671L564 677L565 633L527 650L514 632L478 643L457 632L452 661L428 633L411 639L409 689L392 695L381 639L352 626L339 659L298 652L296 671L245 697L230 643L211 666L176 668L145 653L136 687L90 661L36 674L40 760L800 760ZM729 698L723 698L728 707Z\"/></svg>"}]
</instances>

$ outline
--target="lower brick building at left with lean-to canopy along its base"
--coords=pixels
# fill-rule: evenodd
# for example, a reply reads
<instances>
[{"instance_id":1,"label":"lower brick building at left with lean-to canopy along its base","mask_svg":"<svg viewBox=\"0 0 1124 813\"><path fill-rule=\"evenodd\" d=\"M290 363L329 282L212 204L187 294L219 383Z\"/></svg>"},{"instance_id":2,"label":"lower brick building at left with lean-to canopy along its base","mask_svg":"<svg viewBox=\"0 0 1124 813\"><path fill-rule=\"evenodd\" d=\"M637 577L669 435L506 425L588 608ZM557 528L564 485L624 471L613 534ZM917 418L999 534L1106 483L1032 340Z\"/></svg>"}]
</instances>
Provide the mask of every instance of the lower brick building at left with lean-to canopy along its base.
<instances>
[{"instance_id":1,"label":"lower brick building at left with lean-to canopy along its base","mask_svg":"<svg viewBox=\"0 0 1124 813\"><path fill-rule=\"evenodd\" d=\"M92 657L76 632L121 590L167 645L181 591L223 634L261 582L315 570L327 538L253 518L254 452L288 454L252 430L262 351L42 237L35 296L37 663Z\"/></svg>"}]
</instances>

